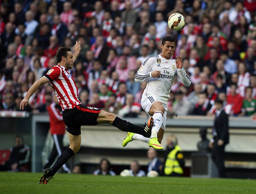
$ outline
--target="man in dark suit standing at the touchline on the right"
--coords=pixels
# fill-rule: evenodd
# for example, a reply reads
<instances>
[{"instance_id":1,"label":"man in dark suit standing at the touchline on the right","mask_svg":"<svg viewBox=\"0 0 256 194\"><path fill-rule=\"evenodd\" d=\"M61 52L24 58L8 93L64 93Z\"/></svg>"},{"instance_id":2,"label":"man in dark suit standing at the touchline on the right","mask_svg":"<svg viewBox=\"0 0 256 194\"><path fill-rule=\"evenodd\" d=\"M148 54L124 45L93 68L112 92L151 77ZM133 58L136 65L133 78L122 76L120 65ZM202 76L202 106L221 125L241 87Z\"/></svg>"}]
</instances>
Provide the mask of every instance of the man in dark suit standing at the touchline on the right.
<instances>
[{"instance_id":1,"label":"man in dark suit standing at the touchline on the right","mask_svg":"<svg viewBox=\"0 0 256 194\"><path fill-rule=\"evenodd\" d=\"M223 108L223 101L216 99L216 116L214 119L213 138L209 143L212 150L212 159L218 167L219 177L226 177L224 165L225 146L229 143L228 115Z\"/></svg>"}]
</instances>

